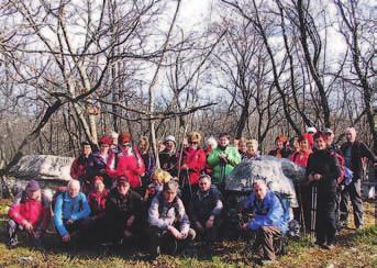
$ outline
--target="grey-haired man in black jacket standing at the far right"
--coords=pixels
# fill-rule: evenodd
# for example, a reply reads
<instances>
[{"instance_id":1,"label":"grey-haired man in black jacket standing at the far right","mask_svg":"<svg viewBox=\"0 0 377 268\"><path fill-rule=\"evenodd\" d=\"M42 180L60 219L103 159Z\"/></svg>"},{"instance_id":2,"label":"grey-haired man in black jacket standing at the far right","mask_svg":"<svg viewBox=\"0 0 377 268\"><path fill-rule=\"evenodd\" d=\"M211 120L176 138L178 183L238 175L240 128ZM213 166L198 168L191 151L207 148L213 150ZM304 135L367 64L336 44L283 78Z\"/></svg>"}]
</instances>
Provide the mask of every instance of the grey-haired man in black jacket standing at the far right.
<instances>
[{"instance_id":1,"label":"grey-haired man in black jacket standing at the far right","mask_svg":"<svg viewBox=\"0 0 377 268\"><path fill-rule=\"evenodd\" d=\"M374 163L375 167L377 166L377 158L363 142L356 139L356 130L354 127L347 127L345 130L346 142L341 146L341 150L345 160L345 167L353 171L353 178L352 182L348 186L345 186L341 193L340 225L343 227L347 225L348 201L351 199L354 210L355 227L363 228L362 158L368 158Z\"/></svg>"}]
</instances>

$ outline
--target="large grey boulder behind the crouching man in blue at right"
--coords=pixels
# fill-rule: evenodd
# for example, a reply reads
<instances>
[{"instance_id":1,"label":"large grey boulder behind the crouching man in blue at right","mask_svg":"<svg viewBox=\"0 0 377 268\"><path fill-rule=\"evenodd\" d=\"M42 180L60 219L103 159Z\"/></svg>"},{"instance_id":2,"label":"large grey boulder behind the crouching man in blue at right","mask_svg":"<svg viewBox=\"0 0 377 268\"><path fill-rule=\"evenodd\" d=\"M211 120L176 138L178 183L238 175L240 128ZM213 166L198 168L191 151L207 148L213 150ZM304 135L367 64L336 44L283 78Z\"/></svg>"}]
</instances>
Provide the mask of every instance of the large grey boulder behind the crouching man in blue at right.
<instances>
[{"instance_id":1,"label":"large grey boulder behind the crouching man in blue at right","mask_svg":"<svg viewBox=\"0 0 377 268\"><path fill-rule=\"evenodd\" d=\"M262 156L257 159L242 161L229 175L225 190L235 192L252 192L253 182L264 179L270 190L286 194L292 208L298 206L293 181L304 179L304 168L289 159L273 156Z\"/></svg>"}]
</instances>

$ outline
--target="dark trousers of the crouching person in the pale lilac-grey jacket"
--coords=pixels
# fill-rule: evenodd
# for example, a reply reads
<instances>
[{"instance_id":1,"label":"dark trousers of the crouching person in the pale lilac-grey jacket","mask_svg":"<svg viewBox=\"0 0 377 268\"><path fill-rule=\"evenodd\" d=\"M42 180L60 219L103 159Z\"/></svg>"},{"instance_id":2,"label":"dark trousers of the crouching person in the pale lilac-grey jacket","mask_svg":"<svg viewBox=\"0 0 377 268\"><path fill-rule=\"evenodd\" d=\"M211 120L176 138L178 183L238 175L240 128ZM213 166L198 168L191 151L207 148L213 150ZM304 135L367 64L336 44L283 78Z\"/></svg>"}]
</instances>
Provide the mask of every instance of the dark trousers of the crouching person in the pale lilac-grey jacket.
<instances>
[{"instance_id":1,"label":"dark trousers of the crouching person in the pale lilac-grey jacket","mask_svg":"<svg viewBox=\"0 0 377 268\"><path fill-rule=\"evenodd\" d=\"M149 253L153 255L159 255L162 253L175 255L178 249L182 249L192 244L196 237L195 231L190 228L186 239L178 241L169 231L155 226L151 226L147 230L147 235L149 238Z\"/></svg>"}]
</instances>

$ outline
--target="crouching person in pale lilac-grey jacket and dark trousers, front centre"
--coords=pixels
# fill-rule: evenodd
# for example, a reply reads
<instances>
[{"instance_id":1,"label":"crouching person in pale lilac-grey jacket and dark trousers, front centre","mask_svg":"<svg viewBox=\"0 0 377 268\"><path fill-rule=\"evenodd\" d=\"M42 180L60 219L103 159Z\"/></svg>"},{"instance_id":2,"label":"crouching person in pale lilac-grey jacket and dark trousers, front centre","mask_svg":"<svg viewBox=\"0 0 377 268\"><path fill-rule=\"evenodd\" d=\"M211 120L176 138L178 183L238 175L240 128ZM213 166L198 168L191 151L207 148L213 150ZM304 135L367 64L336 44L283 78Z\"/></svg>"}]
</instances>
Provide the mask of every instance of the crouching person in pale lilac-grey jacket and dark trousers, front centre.
<instances>
[{"instance_id":1,"label":"crouching person in pale lilac-grey jacket and dark trousers, front centre","mask_svg":"<svg viewBox=\"0 0 377 268\"><path fill-rule=\"evenodd\" d=\"M148 210L148 237L152 256L162 252L176 254L179 246L192 243L196 233L190 228L182 201L177 197L178 183L170 180L160 194L152 200Z\"/></svg>"}]
</instances>

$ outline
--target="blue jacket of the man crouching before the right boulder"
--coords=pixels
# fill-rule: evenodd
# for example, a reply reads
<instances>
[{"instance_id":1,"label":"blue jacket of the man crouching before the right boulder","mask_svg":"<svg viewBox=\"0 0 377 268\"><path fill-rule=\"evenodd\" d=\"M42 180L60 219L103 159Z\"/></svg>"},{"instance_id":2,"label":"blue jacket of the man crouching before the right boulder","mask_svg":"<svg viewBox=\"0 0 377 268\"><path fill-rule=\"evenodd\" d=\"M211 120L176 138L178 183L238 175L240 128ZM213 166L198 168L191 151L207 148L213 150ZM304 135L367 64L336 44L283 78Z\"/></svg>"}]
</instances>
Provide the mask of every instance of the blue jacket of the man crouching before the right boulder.
<instances>
[{"instance_id":1,"label":"blue jacket of the man crouching before the right boulder","mask_svg":"<svg viewBox=\"0 0 377 268\"><path fill-rule=\"evenodd\" d=\"M288 223L284 220L284 209L278 197L268 190L260 205L255 199L255 193L252 193L244 205L245 209L252 209L255 216L250 221L248 227L257 230L262 226L278 226L285 234L288 230Z\"/></svg>"}]
</instances>

